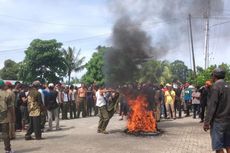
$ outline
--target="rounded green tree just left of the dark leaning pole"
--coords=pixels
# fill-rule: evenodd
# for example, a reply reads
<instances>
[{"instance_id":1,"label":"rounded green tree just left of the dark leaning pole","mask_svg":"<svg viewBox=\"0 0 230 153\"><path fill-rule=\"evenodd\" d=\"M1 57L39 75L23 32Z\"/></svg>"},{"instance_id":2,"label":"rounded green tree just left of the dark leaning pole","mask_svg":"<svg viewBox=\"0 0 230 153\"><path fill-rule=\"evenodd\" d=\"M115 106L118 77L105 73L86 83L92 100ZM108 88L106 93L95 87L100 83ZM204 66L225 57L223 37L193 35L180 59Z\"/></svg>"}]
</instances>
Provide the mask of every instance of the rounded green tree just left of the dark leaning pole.
<instances>
[{"instance_id":1,"label":"rounded green tree just left of the dark leaning pole","mask_svg":"<svg viewBox=\"0 0 230 153\"><path fill-rule=\"evenodd\" d=\"M181 82L186 81L188 67L184 64L183 61L175 60L170 64L170 68L172 71L173 79L180 80Z\"/></svg>"}]
</instances>

